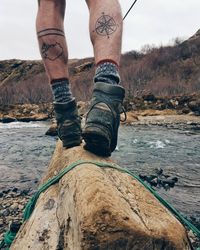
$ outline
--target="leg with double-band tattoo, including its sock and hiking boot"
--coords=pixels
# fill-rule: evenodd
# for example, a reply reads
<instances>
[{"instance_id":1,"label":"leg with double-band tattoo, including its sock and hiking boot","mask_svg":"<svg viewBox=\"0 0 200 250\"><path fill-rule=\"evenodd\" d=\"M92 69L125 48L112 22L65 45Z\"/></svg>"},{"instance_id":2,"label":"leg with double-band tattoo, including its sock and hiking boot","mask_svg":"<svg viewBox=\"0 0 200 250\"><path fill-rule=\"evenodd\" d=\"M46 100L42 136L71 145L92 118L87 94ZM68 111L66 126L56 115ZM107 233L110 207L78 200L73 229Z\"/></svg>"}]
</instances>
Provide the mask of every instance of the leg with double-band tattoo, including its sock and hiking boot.
<instances>
[{"instance_id":1,"label":"leg with double-band tattoo, including its sock and hiking boot","mask_svg":"<svg viewBox=\"0 0 200 250\"><path fill-rule=\"evenodd\" d=\"M68 73L68 51L64 34L65 0L39 0L36 29L40 53L49 77L63 146L80 144L80 118L72 96Z\"/></svg>"}]
</instances>

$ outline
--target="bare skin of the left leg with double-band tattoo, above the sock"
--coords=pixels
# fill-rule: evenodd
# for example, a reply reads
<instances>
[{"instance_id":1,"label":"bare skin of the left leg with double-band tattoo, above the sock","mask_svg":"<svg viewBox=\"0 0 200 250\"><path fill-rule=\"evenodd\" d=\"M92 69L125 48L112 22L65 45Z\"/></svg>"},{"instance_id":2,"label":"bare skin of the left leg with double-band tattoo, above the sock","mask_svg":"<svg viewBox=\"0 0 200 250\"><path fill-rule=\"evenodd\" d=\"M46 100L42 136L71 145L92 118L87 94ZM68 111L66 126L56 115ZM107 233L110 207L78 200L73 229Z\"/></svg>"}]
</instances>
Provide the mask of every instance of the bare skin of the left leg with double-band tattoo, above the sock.
<instances>
[{"instance_id":1,"label":"bare skin of the left leg with double-band tattoo, above the sock","mask_svg":"<svg viewBox=\"0 0 200 250\"><path fill-rule=\"evenodd\" d=\"M40 0L36 29L40 53L50 82L68 78L68 50L64 35L65 0Z\"/></svg>"}]
</instances>

